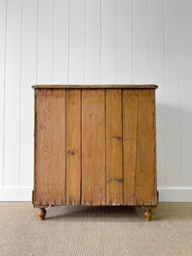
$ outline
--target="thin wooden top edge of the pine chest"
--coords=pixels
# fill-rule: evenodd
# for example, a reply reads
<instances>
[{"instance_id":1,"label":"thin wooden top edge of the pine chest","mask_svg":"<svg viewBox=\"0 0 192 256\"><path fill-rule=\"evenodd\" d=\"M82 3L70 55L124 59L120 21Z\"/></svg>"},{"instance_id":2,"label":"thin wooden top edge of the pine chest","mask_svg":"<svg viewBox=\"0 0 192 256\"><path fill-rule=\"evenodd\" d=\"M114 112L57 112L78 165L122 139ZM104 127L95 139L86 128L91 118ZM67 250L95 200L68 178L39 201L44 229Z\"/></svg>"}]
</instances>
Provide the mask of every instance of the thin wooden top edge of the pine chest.
<instances>
[{"instance_id":1,"label":"thin wooden top edge of the pine chest","mask_svg":"<svg viewBox=\"0 0 192 256\"><path fill-rule=\"evenodd\" d=\"M157 89L155 84L35 84L33 89Z\"/></svg>"}]
</instances>

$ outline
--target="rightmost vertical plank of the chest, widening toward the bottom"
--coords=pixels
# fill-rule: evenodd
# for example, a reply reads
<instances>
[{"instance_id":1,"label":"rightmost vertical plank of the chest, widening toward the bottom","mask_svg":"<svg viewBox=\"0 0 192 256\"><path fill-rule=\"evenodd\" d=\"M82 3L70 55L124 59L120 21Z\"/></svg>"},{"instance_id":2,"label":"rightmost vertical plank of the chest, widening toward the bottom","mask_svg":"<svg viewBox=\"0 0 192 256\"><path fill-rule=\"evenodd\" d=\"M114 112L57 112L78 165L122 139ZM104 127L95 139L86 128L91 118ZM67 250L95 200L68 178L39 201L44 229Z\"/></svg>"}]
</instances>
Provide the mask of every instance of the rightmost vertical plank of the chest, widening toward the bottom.
<instances>
[{"instance_id":1,"label":"rightmost vertical plank of the chest, widening toward the bottom","mask_svg":"<svg viewBox=\"0 0 192 256\"><path fill-rule=\"evenodd\" d=\"M135 204L156 205L154 90L139 90Z\"/></svg>"}]
</instances>

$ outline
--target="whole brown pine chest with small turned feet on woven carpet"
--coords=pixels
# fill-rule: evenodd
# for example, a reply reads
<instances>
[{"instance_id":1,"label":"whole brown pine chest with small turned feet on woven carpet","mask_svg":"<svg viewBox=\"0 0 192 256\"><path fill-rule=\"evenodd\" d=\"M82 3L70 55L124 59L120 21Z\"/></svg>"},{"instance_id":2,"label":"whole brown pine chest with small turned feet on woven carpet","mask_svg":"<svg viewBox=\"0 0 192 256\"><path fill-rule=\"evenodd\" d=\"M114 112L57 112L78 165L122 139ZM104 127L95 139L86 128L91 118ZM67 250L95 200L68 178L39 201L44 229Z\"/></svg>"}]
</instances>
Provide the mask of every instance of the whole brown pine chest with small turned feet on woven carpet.
<instances>
[{"instance_id":1,"label":"whole brown pine chest with small turned feet on woven carpet","mask_svg":"<svg viewBox=\"0 0 192 256\"><path fill-rule=\"evenodd\" d=\"M34 190L49 205L157 206L156 85L34 85Z\"/></svg>"}]
</instances>

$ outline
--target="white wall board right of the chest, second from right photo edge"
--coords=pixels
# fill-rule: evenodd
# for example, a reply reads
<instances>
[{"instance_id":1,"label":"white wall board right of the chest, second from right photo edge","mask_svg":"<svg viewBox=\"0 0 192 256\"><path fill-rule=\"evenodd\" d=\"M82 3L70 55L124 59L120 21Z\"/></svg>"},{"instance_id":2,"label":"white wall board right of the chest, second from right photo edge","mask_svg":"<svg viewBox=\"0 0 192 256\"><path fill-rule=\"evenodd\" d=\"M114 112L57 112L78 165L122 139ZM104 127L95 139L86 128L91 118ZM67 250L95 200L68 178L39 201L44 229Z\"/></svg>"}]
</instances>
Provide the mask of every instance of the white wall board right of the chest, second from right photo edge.
<instances>
[{"instance_id":1,"label":"white wall board right of the chest, second from right photo edge","mask_svg":"<svg viewBox=\"0 0 192 256\"><path fill-rule=\"evenodd\" d=\"M165 1L166 187L181 186L179 2Z\"/></svg>"}]
</instances>

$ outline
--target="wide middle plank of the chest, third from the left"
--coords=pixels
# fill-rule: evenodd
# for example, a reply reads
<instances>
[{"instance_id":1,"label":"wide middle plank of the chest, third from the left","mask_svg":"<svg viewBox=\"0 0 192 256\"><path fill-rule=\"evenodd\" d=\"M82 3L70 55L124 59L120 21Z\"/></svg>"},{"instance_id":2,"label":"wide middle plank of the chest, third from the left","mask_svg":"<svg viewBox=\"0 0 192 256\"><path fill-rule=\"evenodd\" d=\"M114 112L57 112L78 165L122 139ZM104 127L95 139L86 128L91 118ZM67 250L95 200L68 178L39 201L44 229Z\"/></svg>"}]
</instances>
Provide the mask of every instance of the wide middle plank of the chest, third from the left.
<instances>
[{"instance_id":1,"label":"wide middle plank of the chest, third from the left","mask_svg":"<svg viewBox=\"0 0 192 256\"><path fill-rule=\"evenodd\" d=\"M82 90L82 204L106 203L105 90Z\"/></svg>"}]
</instances>

